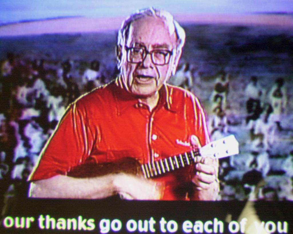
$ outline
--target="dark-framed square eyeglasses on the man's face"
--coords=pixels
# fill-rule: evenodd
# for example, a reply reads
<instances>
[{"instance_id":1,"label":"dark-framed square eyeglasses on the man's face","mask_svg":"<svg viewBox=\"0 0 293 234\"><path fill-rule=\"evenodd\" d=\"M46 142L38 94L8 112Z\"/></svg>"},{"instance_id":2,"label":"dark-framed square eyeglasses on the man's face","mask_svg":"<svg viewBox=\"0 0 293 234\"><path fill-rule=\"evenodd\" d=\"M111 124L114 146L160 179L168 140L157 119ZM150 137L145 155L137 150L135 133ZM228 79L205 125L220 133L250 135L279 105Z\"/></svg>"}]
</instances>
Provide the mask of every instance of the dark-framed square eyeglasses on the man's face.
<instances>
[{"instance_id":1,"label":"dark-framed square eyeglasses on the man's face","mask_svg":"<svg viewBox=\"0 0 293 234\"><path fill-rule=\"evenodd\" d=\"M170 61L173 52L170 50L155 49L147 51L144 47L127 47L125 46L127 52L127 62L131 63L141 63L147 57L147 54L151 55L151 61L155 65L165 65Z\"/></svg>"}]
</instances>

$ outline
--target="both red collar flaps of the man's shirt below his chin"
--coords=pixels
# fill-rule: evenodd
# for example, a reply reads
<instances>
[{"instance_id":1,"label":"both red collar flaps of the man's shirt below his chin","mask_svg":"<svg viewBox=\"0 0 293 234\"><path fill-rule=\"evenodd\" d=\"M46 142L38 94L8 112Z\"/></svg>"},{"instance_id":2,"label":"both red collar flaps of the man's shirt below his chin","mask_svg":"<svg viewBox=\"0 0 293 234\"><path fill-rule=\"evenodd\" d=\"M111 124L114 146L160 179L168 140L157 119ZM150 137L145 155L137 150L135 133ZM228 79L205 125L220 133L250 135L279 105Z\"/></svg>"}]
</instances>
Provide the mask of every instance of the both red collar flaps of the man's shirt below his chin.
<instances>
[{"instance_id":1,"label":"both red collar flaps of the man's shirt below his chin","mask_svg":"<svg viewBox=\"0 0 293 234\"><path fill-rule=\"evenodd\" d=\"M130 108L140 108L143 105L136 95L126 90L121 77L117 77L114 84L113 96L115 98L118 116L129 111ZM176 112L178 108L173 104L172 100L173 87L163 84L159 92L160 99L156 109L164 107L168 111Z\"/></svg>"}]
</instances>

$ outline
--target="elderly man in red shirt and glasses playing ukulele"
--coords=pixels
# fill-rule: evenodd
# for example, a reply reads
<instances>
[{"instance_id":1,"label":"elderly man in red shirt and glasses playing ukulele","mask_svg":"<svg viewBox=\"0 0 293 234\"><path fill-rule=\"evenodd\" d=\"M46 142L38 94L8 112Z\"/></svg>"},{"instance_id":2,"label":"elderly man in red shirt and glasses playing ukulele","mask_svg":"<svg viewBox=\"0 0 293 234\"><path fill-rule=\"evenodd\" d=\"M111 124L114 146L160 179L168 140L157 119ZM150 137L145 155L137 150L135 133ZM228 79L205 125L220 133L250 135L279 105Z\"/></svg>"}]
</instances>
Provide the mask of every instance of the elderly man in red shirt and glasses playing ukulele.
<instances>
[{"instance_id":1,"label":"elderly man in red shirt and glasses playing ukulele","mask_svg":"<svg viewBox=\"0 0 293 234\"><path fill-rule=\"evenodd\" d=\"M30 176L31 197L216 199L217 160L195 156L195 164L176 170L170 158L209 142L197 98L166 84L176 72L184 42L183 28L166 11L144 9L122 23L117 43L120 75L68 108ZM81 165L108 165L125 158L147 165L145 177L157 176L111 171L70 176Z\"/></svg>"}]
</instances>

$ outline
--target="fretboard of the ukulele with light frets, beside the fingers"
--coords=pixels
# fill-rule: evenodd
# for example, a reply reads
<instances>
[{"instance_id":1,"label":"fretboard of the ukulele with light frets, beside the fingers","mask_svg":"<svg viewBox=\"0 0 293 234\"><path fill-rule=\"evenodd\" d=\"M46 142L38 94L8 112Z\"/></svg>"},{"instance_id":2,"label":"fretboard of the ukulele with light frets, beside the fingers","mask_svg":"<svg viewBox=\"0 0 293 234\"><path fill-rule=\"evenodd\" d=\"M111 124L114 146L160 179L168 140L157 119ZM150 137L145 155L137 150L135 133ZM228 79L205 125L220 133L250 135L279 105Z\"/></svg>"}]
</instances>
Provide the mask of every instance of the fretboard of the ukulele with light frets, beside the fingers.
<instances>
[{"instance_id":1,"label":"fretboard of the ukulele with light frets, beside the fingers","mask_svg":"<svg viewBox=\"0 0 293 234\"><path fill-rule=\"evenodd\" d=\"M198 149L142 164L141 169L145 178L152 178L188 166L194 162L196 156L200 156Z\"/></svg>"}]
</instances>

